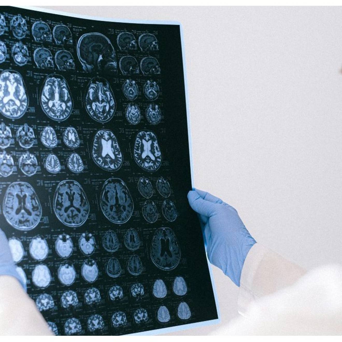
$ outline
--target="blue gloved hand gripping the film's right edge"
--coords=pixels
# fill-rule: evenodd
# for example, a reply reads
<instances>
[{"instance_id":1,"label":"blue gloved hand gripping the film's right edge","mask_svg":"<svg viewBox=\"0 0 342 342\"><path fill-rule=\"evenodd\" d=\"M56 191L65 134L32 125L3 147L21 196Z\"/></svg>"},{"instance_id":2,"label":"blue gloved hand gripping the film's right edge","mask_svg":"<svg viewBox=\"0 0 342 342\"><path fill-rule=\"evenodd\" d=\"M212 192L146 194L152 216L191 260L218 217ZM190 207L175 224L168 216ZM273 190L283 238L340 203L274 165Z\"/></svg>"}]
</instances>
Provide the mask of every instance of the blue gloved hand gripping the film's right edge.
<instances>
[{"instance_id":1,"label":"blue gloved hand gripping the film's right edge","mask_svg":"<svg viewBox=\"0 0 342 342\"><path fill-rule=\"evenodd\" d=\"M189 191L188 200L204 230L209 261L240 286L242 266L256 241L237 211L220 198L196 189Z\"/></svg>"}]
</instances>

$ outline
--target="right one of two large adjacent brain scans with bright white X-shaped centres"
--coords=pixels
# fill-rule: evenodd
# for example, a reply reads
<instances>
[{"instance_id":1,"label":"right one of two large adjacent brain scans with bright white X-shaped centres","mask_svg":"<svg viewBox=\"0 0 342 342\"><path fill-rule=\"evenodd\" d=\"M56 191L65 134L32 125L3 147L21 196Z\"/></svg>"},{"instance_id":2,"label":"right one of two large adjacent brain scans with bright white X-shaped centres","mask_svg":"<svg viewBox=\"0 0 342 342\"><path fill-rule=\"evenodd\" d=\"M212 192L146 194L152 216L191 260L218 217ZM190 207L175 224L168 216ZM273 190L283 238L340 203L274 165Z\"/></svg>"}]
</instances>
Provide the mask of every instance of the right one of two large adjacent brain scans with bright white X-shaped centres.
<instances>
[{"instance_id":1,"label":"right one of two large adjacent brain scans with bright white X-shaped centres","mask_svg":"<svg viewBox=\"0 0 342 342\"><path fill-rule=\"evenodd\" d=\"M157 171L161 165L161 151L156 135L151 131L140 131L135 138L134 159L145 171Z\"/></svg>"}]
</instances>

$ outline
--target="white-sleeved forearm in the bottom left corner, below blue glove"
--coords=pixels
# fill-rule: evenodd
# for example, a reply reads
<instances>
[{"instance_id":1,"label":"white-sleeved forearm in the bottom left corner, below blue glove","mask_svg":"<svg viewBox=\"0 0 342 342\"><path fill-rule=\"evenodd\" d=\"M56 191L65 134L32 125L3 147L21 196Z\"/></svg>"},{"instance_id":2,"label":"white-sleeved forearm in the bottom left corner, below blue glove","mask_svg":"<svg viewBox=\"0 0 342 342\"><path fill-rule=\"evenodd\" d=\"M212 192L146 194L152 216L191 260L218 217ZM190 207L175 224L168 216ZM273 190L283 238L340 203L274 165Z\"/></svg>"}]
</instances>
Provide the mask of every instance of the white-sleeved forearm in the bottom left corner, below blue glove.
<instances>
[{"instance_id":1,"label":"white-sleeved forearm in the bottom left corner, below blue glove","mask_svg":"<svg viewBox=\"0 0 342 342\"><path fill-rule=\"evenodd\" d=\"M18 280L0 276L0 335L52 335Z\"/></svg>"}]
</instances>

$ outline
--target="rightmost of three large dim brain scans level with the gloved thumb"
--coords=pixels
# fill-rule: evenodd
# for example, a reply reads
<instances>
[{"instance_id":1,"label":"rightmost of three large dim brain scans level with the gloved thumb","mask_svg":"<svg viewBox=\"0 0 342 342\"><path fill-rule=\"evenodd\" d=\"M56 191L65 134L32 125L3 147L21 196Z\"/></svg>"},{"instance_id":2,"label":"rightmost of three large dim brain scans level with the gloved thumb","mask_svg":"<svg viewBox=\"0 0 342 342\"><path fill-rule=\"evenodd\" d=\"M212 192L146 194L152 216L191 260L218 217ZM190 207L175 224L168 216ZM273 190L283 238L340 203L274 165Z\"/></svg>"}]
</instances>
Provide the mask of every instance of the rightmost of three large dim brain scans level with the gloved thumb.
<instances>
[{"instance_id":1,"label":"rightmost of three large dim brain scans level with the gloved thumb","mask_svg":"<svg viewBox=\"0 0 342 342\"><path fill-rule=\"evenodd\" d=\"M127 222L133 213L133 199L126 184L119 178L105 181L100 196L103 214L113 223Z\"/></svg>"}]
</instances>

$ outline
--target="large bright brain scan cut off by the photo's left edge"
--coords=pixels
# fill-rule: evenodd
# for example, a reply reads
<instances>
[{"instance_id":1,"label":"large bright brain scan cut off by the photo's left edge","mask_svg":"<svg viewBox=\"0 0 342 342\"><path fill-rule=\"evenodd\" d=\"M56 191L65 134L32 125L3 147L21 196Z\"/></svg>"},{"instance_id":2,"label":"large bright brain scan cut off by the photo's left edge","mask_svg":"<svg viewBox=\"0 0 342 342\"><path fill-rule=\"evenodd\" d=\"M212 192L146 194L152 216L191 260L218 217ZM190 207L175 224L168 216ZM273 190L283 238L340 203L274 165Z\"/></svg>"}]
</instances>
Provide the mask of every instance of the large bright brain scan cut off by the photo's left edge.
<instances>
[{"instance_id":1,"label":"large bright brain scan cut off by the photo's left edge","mask_svg":"<svg viewBox=\"0 0 342 342\"><path fill-rule=\"evenodd\" d=\"M21 118L28 107L28 95L24 80L13 70L0 74L0 112L9 119Z\"/></svg>"}]
</instances>

